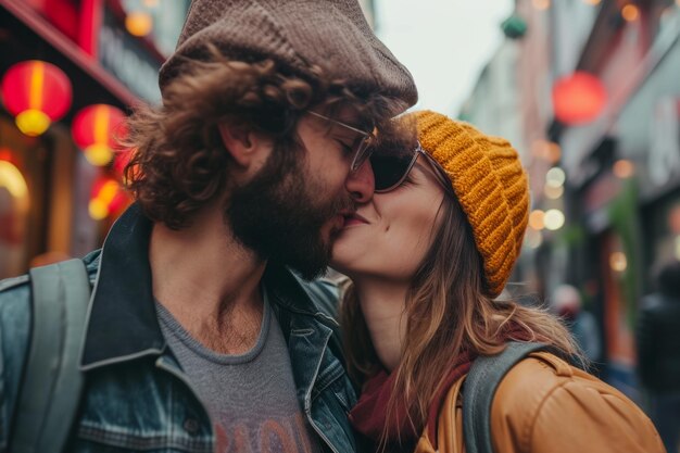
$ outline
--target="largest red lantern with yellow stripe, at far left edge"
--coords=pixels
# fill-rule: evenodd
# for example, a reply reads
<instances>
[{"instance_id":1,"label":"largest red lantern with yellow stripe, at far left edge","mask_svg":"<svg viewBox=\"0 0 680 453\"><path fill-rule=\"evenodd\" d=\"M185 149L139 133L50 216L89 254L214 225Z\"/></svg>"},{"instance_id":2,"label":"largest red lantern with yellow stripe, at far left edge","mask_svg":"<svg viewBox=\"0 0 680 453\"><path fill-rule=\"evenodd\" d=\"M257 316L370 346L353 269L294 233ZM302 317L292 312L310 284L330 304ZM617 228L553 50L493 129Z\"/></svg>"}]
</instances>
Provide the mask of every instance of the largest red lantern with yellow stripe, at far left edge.
<instances>
[{"instance_id":1,"label":"largest red lantern with yellow stripe, at far left edge","mask_svg":"<svg viewBox=\"0 0 680 453\"><path fill-rule=\"evenodd\" d=\"M5 109L16 127L27 136L39 136L61 119L72 101L71 81L53 64L30 60L16 63L2 78Z\"/></svg>"}]
</instances>

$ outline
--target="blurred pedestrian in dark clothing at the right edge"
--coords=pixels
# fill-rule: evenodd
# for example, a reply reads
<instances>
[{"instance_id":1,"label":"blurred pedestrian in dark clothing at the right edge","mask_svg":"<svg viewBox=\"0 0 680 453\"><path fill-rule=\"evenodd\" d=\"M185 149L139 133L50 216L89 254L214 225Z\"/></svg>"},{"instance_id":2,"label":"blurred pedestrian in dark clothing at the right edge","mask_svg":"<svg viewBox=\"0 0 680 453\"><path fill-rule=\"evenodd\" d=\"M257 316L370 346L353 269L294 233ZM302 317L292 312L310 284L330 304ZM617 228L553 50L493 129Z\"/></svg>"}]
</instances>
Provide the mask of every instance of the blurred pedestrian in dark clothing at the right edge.
<instances>
[{"instance_id":1,"label":"blurred pedestrian in dark clothing at the right edge","mask_svg":"<svg viewBox=\"0 0 680 453\"><path fill-rule=\"evenodd\" d=\"M680 441L680 262L660 265L638 316L638 375L666 450Z\"/></svg>"}]
</instances>

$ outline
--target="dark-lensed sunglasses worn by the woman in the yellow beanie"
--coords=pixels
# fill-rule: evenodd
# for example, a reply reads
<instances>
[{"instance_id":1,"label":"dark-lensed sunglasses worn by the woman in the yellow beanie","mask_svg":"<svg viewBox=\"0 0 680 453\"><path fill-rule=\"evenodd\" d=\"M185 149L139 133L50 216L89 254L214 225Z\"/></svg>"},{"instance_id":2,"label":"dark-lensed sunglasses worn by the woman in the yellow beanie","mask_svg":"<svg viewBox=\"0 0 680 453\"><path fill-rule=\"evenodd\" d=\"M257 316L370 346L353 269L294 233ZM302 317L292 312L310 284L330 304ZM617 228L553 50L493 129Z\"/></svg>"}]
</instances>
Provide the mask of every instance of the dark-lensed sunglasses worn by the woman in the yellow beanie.
<instances>
[{"instance_id":1,"label":"dark-lensed sunglasses worn by the woman in the yellow beanie","mask_svg":"<svg viewBox=\"0 0 680 453\"><path fill-rule=\"evenodd\" d=\"M399 187L413 168L418 154L423 154L431 164L439 181L444 188L451 189L451 181L441 166L418 143L414 149L405 151L376 150L370 155L370 166L375 178L377 193L389 192Z\"/></svg>"}]
</instances>

